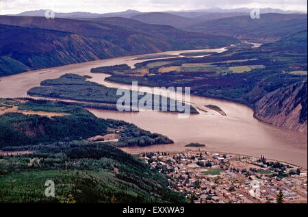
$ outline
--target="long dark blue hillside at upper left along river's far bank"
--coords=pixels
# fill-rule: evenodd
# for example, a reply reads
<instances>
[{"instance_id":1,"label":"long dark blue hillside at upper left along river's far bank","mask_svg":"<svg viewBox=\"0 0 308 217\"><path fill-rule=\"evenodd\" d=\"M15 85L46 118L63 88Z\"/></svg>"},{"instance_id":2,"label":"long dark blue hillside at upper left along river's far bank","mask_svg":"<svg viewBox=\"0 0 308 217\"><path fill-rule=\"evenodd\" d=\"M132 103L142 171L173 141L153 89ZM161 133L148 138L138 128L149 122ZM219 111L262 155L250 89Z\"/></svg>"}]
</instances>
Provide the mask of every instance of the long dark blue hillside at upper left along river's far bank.
<instances>
[{"instance_id":1,"label":"long dark blue hillside at upper left along river's far bank","mask_svg":"<svg viewBox=\"0 0 308 217\"><path fill-rule=\"evenodd\" d=\"M37 16L0 16L0 28L0 76L125 55L209 49L239 42L233 37L118 17L46 21ZM24 37L33 40L25 41Z\"/></svg>"}]
</instances>

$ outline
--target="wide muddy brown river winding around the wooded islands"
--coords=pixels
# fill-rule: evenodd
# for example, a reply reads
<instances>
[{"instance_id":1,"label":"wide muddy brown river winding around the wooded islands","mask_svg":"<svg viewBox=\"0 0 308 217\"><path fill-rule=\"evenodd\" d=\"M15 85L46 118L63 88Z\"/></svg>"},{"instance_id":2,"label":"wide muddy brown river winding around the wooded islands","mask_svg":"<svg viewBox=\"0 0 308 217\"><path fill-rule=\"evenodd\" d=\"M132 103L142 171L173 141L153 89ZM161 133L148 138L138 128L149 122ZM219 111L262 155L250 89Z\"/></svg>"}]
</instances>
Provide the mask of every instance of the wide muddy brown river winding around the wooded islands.
<instances>
[{"instance_id":1,"label":"wide muddy brown river winding around the wooded islands","mask_svg":"<svg viewBox=\"0 0 308 217\"><path fill-rule=\"evenodd\" d=\"M199 50L201 51L201 50ZM222 52L224 49L203 51ZM179 55L191 51L169 51L159 54ZM81 64L71 64L54 68L29 71L18 75L0 77L0 97L27 97L27 90L39 86L44 79L54 79L65 73L91 75L91 81L113 88L131 88L129 85L106 82L106 74L91 74L90 69L114 64L129 64L133 66L136 58L147 56L136 55L107 60L97 60ZM164 94L167 94L164 93ZM261 123L253 118L253 111L245 105L191 96L191 103L200 114L191 115L187 119L179 119L177 114L168 112L114 112L89 109L99 118L125 120L151 132L162 133L175 141L175 144L155 145L146 147L129 147L124 151L140 153L145 151L179 152L188 149L185 144L199 142L206 144L201 150L222 153L239 153L243 155L265 155L269 159L277 159L307 168L307 134L274 127ZM205 105L217 105L227 116L222 116ZM192 149L192 148L190 148Z\"/></svg>"}]
</instances>

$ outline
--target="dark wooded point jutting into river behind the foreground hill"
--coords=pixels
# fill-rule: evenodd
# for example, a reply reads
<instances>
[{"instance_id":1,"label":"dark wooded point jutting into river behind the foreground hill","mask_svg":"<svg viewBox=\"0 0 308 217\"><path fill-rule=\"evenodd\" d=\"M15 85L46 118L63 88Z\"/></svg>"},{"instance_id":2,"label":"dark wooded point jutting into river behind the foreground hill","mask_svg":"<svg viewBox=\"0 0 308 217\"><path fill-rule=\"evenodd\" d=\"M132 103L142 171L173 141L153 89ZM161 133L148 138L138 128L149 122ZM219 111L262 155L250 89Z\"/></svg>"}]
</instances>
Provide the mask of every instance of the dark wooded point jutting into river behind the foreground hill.
<instances>
[{"instance_id":1,"label":"dark wooded point jutting into river behind the foreground hill","mask_svg":"<svg viewBox=\"0 0 308 217\"><path fill-rule=\"evenodd\" d=\"M158 133L144 131L120 120L105 120L95 117L84 108L64 105L63 102L27 99L25 103L13 99L1 99L2 106L18 106L18 110L42 111L66 114L48 118L39 115L25 115L18 112L0 116L0 148L12 150L18 146L50 144L84 140L92 136L104 136L118 131L120 139L115 146L147 146L170 144L172 140ZM69 104L69 103L66 103ZM120 129L120 130L118 130Z\"/></svg>"}]
</instances>

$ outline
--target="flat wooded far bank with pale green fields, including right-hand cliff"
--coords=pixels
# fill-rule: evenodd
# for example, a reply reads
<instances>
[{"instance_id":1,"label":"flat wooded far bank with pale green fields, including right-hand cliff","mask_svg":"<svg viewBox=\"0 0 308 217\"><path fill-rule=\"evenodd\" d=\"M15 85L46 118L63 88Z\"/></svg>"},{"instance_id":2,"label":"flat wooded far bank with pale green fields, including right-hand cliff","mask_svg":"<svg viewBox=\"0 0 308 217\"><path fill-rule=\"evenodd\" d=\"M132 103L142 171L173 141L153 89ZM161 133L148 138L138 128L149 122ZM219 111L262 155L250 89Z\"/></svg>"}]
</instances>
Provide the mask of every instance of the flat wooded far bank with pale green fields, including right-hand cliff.
<instances>
[{"instance_id":1,"label":"flat wooded far bank with pale green fields, including right-hand cliff","mask_svg":"<svg viewBox=\"0 0 308 217\"><path fill-rule=\"evenodd\" d=\"M254 116L272 125L307 133L307 77L292 68L307 68L307 31L255 47L241 44L228 51L197 58L168 58L135 64L129 70L108 72L107 81L144 86L190 86L202 97L248 105ZM99 68L92 69L99 73ZM279 99L277 93L285 92ZM272 100L268 100L271 98ZM290 103L292 101L292 103ZM287 104L287 105L286 105Z\"/></svg>"}]
</instances>

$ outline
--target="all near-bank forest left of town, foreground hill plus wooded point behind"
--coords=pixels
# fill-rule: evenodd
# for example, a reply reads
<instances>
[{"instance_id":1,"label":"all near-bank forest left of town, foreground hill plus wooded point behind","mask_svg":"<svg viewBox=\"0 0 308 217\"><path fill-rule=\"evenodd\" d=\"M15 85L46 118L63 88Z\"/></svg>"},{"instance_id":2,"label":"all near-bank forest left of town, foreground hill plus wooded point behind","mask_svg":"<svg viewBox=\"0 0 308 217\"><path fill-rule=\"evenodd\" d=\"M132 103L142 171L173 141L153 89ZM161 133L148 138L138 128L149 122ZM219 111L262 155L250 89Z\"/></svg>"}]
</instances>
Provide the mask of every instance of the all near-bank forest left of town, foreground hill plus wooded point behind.
<instances>
[{"instance_id":1,"label":"all near-bank forest left of town, foreground hill plus wooded point behind","mask_svg":"<svg viewBox=\"0 0 308 217\"><path fill-rule=\"evenodd\" d=\"M172 140L120 120L96 118L73 103L1 99L0 203L186 203L168 189L166 175L116 146L169 144ZM53 112L41 116L22 112ZM118 142L87 138L116 133ZM44 195L45 181L55 197Z\"/></svg>"}]
</instances>

